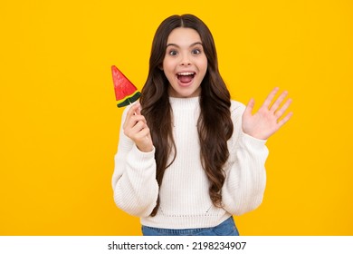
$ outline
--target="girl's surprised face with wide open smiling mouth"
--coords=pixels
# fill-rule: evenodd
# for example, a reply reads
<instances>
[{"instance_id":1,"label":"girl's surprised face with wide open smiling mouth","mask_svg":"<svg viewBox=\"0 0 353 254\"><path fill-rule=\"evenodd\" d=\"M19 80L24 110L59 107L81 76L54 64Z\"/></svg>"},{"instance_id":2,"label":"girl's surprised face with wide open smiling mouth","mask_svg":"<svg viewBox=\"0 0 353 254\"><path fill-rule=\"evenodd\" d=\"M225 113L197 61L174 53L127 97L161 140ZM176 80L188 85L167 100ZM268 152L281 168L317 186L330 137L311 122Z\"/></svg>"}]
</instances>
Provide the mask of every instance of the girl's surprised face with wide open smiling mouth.
<instances>
[{"instance_id":1,"label":"girl's surprised face with wide open smiling mouth","mask_svg":"<svg viewBox=\"0 0 353 254\"><path fill-rule=\"evenodd\" d=\"M207 57L196 30L179 27L169 34L162 67L170 84L169 96L188 98L200 94Z\"/></svg>"}]
</instances>

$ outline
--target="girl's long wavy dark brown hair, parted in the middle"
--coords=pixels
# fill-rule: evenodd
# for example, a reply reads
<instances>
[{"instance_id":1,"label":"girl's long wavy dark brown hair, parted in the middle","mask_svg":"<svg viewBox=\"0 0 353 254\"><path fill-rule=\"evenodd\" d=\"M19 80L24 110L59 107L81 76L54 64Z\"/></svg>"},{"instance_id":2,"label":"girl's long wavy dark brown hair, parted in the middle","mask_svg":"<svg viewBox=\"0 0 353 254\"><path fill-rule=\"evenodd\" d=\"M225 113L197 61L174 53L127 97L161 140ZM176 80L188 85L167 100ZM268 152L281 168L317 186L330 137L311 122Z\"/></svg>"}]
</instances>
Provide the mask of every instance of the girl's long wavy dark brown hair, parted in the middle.
<instances>
[{"instance_id":1,"label":"girl's long wavy dark brown hair, parted in the middle","mask_svg":"<svg viewBox=\"0 0 353 254\"><path fill-rule=\"evenodd\" d=\"M156 148L156 179L161 186L164 172L176 158L173 138L172 109L169 103L167 77L160 69L167 49L167 38L177 27L195 29L200 35L207 57L207 72L201 83L200 116L197 122L201 146L200 159L209 181L209 195L215 206L222 206L223 166L229 157L227 141L233 133L230 93L222 79L217 62L214 38L205 23L195 15L172 15L157 28L149 58L148 79L141 91L140 103ZM173 158L170 156L173 151ZM157 205L151 216L157 214Z\"/></svg>"}]
</instances>

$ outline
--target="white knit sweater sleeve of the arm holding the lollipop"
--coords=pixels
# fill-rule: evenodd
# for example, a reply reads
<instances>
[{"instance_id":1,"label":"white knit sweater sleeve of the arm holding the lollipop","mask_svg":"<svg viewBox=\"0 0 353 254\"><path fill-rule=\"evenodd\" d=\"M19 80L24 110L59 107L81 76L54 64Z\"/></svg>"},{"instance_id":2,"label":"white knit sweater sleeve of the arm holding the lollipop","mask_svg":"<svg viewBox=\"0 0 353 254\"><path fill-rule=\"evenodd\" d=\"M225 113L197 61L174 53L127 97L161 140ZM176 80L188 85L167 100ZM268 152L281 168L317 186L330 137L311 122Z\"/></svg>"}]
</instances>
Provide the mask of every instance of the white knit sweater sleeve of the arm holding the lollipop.
<instances>
[{"instance_id":1,"label":"white knit sweater sleeve of the arm holding the lollipop","mask_svg":"<svg viewBox=\"0 0 353 254\"><path fill-rule=\"evenodd\" d=\"M124 110L121 122L125 122L128 110L129 107ZM124 134L121 124L114 161L111 183L115 203L131 215L149 216L158 196L155 148L150 152L139 151L136 144Z\"/></svg>"}]
</instances>

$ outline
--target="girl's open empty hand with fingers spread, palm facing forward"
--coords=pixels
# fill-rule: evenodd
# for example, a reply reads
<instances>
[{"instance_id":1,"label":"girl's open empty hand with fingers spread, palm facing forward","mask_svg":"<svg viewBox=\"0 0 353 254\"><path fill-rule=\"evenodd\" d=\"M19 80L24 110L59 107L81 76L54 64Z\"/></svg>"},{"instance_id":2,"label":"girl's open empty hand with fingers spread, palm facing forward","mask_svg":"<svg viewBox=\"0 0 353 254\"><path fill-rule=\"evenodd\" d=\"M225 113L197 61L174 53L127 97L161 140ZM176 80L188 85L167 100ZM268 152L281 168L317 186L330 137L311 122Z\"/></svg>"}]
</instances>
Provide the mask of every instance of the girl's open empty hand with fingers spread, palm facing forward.
<instances>
[{"instance_id":1,"label":"girl's open empty hand with fingers spread, palm facing forward","mask_svg":"<svg viewBox=\"0 0 353 254\"><path fill-rule=\"evenodd\" d=\"M253 112L254 100L251 99L243 112L243 132L260 140L267 140L274 132L277 132L281 126L288 122L292 112L283 116L284 112L291 104L288 99L282 106L281 103L287 97L288 92L281 93L278 99L271 105L273 98L278 93L279 88L276 87L267 96L258 112Z\"/></svg>"}]
</instances>

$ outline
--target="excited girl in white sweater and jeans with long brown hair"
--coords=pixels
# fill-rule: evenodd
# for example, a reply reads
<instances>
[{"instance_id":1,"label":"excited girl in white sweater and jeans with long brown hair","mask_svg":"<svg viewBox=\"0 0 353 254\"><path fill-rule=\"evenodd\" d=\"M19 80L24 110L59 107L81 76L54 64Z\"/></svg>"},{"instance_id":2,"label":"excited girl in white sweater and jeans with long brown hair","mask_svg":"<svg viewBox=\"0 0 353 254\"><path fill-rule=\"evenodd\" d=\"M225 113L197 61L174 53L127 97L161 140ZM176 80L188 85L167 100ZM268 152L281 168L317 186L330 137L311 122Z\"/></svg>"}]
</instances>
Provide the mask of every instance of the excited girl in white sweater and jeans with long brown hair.
<instances>
[{"instance_id":1,"label":"excited girl in white sweater and jeans with long brown hair","mask_svg":"<svg viewBox=\"0 0 353 254\"><path fill-rule=\"evenodd\" d=\"M285 122L287 93L258 112L230 99L215 42L194 15L155 34L139 103L125 109L112 177L121 210L143 235L238 235L232 215L262 203L266 140ZM281 121L281 116L284 116Z\"/></svg>"}]
</instances>

